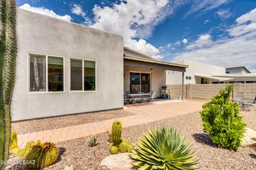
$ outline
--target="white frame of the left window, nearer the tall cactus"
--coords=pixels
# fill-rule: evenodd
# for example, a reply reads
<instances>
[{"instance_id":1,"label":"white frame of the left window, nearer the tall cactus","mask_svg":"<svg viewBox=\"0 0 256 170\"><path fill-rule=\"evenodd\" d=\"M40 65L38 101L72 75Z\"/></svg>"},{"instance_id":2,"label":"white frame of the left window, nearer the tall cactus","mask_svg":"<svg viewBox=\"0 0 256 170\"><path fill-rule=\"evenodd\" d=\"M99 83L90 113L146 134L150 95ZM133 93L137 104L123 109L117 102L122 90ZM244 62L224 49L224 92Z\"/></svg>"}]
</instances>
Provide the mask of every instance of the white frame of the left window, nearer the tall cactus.
<instances>
[{"instance_id":1,"label":"white frame of the left window, nearer the tall cactus","mask_svg":"<svg viewBox=\"0 0 256 170\"><path fill-rule=\"evenodd\" d=\"M45 91L30 91L30 55L35 55L35 56L42 56L45 57L45 79L46 79L46 84L45 84ZM48 56L50 57L59 57L63 58L63 91L49 91L48 89ZM27 53L27 58L28 58L28 93L29 94L45 94L45 93L63 93L65 92L65 57L62 56L56 56L56 55L47 55L47 54L38 54L38 53Z\"/></svg>"}]
</instances>

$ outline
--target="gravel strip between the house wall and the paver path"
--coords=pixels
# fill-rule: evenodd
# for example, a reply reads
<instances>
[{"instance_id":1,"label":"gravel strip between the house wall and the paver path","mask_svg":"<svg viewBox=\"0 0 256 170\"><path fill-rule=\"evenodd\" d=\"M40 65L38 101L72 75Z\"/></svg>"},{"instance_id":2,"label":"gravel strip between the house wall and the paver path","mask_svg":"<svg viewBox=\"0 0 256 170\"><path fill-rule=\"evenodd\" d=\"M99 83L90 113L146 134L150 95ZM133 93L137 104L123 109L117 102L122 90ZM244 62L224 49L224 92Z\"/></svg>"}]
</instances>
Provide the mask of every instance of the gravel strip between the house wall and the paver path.
<instances>
[{"instance_id":1,"label":"gravel strip between the house wall and the paver path","mask_svg":"<svg viewBox=\"0 0 256 170\"><path fill-rule=\"evenodd\" d=\"M67 126L75 126L79 124L100 122L118 117L126 117L135 115L134 113L117 109L113 111L92 112L83 114L74 114L67 116L57 116L40 118L35 120L13 122L12 130L17 134L45 131L50 129L65 128Z\"/></svg>"}]
</instances>

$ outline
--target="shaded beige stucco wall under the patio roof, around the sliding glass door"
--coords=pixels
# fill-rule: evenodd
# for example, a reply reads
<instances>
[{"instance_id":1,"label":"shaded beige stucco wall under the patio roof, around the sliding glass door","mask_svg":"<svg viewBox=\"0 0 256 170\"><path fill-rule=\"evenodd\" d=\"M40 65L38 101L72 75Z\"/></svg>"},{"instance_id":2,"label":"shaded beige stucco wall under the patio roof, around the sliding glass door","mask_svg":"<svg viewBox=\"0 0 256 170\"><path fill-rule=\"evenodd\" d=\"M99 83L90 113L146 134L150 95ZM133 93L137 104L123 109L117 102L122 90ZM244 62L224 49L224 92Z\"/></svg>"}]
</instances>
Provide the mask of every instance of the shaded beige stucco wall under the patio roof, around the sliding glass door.
<instances>
[{"instance_id":1,"label":"shaded beige stucco wall under the patio roof, around the sliding glass door","mask_svg":"<svg viewBox=\"0 0 256 170\"><path fill-rule=\"evenodd\" d=\"M154 97L159 97L159 89L161 89L162 86L165 85L165 70L153 70L151 72L151 71L147 71L149 69L124 66L124 91L130 91L130 72L150 73L151 74L151 90L155 91Z\"/></svg>"}]
</instances>

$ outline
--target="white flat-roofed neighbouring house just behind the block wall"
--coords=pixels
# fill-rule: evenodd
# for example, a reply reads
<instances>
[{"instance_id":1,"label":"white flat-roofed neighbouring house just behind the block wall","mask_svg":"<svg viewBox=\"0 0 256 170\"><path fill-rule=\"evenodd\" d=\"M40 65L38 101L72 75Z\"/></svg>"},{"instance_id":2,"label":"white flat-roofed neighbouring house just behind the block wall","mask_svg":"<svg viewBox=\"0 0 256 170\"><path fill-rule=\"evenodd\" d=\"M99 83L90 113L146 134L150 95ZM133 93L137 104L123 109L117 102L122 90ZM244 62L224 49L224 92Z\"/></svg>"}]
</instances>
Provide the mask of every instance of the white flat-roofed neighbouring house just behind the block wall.
<instances>
[{"instance_id":1,"label":"white flat-roofed neighbouring house just behind the block wall","mask_svg":"<svg viewBox=\"0 0 256 170\"><path fill-rule=\"evenodd\" d=\"M225 75L225 67L190 61L179 60L172 63L188 65L185 72L185 84L219 83L232 78L213 77L212 75ZM166 71L166 84L182 84L181 72Z\"/></svg>"}]
</instances>

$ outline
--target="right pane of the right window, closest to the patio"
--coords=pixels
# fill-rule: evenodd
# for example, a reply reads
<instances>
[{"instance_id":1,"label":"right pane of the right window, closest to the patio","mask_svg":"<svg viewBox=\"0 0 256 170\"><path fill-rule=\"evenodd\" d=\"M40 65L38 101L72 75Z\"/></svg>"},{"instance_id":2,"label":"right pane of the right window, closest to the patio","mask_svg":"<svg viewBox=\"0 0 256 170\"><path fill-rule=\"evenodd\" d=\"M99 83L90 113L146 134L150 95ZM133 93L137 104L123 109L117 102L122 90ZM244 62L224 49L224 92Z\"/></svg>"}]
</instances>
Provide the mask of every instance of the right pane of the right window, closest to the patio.
<instances>
[{"instance_id":1,"label":"right pane of the right window, closest to the patio","mask_svg":"<svg viewBox=\"0 0 256 170\"><path fill-rule=\"evenodd\" d=\"M95 62L84 61L84 90L95 90Z\"/></svg>"}]
</instances>

